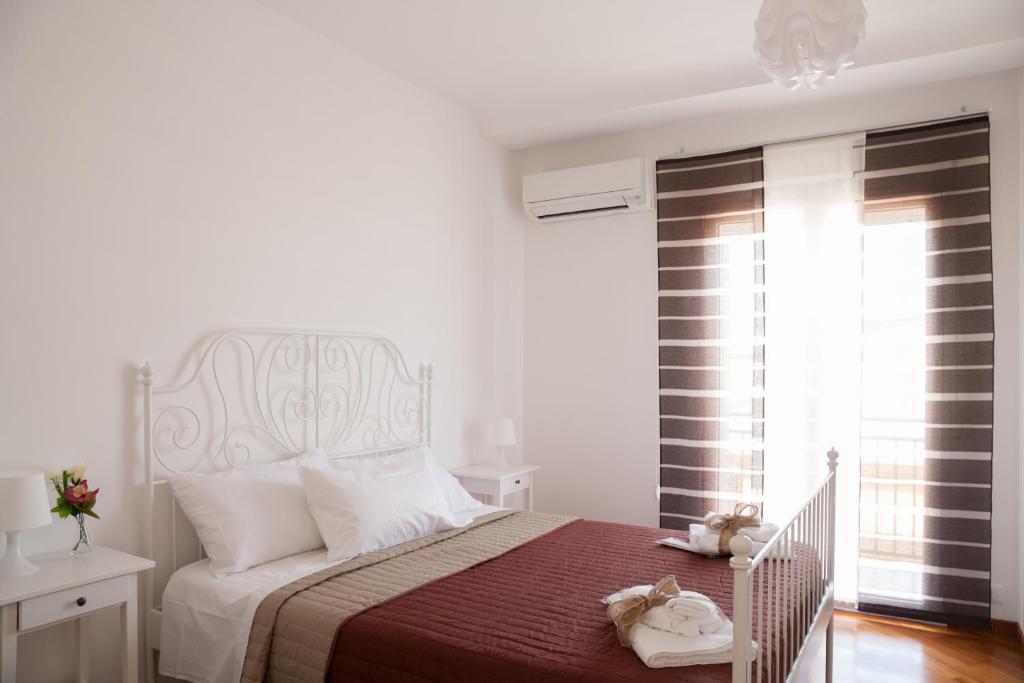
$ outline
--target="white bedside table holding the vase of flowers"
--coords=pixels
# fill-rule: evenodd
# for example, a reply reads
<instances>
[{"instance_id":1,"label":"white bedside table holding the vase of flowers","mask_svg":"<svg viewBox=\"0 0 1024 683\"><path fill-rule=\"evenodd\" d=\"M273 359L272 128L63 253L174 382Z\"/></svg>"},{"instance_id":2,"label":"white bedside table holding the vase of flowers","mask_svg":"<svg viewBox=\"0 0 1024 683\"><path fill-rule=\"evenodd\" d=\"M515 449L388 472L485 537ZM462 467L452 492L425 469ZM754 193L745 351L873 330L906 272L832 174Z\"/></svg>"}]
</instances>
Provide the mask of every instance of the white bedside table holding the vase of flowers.
<instances>
[{"instance_id":1,"label":"white bedside table holding the vase of flowers","mask_svg":"<svg viewBox=\"0 0 1024 683\"><path fill-rule=\"evenodd\" d=\"M0 683L14 683L17 637L53 624L79 620L98 609L121 610L121 669L125 683L138 680L138 574L152 560L110 548L72 557L67 550L31 558L39 571L0 579ZM89 678L89 649L78 627L79 682Z\"/></svg>"}]
</instances>

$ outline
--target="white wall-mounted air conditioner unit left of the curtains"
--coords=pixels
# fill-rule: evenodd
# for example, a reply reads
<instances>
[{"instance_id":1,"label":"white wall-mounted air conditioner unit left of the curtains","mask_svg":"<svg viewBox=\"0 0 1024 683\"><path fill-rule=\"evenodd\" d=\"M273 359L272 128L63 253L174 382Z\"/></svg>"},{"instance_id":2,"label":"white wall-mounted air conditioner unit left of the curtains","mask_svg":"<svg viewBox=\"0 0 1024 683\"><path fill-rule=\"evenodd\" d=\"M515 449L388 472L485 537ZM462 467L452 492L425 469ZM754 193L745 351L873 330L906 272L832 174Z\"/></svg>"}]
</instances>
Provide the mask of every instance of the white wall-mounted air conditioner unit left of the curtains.
<instances>
[{"instance_id":1,"label":"white wall-mounted air conditioner unit left of the curtains","mask_svg":"<svg viewBox=\"0 0 1024 683\"><path fill-rule=\"evenodd\" d=\"M627 159L525 175L522 206L542 222L650 210L650 172L646 160Z\"/></svg>"}]
</instances>

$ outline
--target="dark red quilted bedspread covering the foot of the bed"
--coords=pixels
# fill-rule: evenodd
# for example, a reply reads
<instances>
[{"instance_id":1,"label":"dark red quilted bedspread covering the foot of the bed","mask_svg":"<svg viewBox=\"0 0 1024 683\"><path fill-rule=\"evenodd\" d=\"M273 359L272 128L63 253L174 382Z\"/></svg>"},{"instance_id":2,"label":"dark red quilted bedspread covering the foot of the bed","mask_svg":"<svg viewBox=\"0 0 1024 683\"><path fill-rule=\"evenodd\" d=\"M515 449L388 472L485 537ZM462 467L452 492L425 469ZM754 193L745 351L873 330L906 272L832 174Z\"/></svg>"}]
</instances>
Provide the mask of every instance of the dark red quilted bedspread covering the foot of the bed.
<instances>
[{"instance_id":1,"label":"dark red quilted bedspread covering the foot of the bed","mask_svg":"<svg viewBox=\"0 0 1024 683\"><path fill-rule=\"evenodd\" d=\"M600 599L675 574L731 617L732 569L655 545L665 529L577 521L352 617L331 681L730 680L730 665L648 669L622 647Z\"/></svg>"}]
</instances>

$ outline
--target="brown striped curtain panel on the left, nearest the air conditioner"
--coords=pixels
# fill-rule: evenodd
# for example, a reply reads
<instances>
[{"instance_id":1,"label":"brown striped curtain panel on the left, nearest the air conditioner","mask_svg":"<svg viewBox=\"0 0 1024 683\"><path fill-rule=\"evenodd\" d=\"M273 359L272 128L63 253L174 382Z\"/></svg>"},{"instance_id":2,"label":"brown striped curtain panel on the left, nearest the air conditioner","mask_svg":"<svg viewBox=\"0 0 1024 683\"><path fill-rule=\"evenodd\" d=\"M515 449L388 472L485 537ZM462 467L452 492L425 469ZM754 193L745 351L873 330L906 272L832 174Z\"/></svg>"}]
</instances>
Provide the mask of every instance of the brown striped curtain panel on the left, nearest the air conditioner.
<instances>
[{"instance_id":1,"label":"brown striped curtain panel on the left, nearest the air conditioner","mask_svg":"<svg viewBox=\"0 0 1024 683\"><path fill-rule=\"evenodd\" d=\"M657 164L660 523L760 500L761 148Z\"/></svg>"}]
</instances>

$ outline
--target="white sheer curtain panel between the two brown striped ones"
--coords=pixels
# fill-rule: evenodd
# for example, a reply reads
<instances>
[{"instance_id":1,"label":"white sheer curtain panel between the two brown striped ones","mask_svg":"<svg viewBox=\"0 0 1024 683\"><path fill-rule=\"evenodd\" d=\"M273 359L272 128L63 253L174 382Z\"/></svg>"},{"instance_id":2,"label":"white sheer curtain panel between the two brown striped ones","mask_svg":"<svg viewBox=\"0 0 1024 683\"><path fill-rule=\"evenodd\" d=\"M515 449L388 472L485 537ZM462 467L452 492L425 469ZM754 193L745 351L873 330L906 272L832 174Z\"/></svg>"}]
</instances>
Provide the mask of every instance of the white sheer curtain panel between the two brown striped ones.
<instances>
[{"instance_id":1,"label":"white sheer curtain panel between the two brown striped ones","mask_svg":"<svg viewBox=\"0 0 1024 683\"><path fill-rule=\"evenodd\" d=\"M765 514L785 519L840 452L837 599L856 602L864 135L764 148Z\"/></svg>"}]
</instances>

